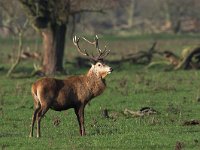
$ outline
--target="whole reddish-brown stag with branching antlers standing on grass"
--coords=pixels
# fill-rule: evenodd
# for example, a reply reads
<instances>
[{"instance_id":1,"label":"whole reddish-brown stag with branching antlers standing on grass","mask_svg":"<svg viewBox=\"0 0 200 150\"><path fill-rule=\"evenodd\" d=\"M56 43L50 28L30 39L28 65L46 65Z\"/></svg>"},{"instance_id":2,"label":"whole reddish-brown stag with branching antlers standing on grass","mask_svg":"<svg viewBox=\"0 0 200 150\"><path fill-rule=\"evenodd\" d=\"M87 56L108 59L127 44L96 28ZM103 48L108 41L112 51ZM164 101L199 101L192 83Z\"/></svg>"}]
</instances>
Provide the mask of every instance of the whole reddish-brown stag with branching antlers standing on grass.
<instances>
[{"instance_id":1,"label":"whole reddish-brown stag with branching antlers standing on grass","mask_svg":"<svg viewBox=\"0 0 200 150\"><path fill-rule=\"evenodd\" d=\"M89 55L85 49L79 46L80 39L95 45L98 56ZM37 120L37 137L40 137L40 122L49 108L55 111L74 108L80 127L81 136L85 135L84 108L94 97L103 93L106 88L105 77L112 72L103 59L109 54L105 49L102 51L98 46L98 37L94 42L86 38L73 38L73 43L79 53L87 56L94 63L86 75L71 76L65 80L45 77L39 79L32 85L34 98L34 112L32 117L30 137L33 136L34 123Z\"/></svg>"}]
</instances>

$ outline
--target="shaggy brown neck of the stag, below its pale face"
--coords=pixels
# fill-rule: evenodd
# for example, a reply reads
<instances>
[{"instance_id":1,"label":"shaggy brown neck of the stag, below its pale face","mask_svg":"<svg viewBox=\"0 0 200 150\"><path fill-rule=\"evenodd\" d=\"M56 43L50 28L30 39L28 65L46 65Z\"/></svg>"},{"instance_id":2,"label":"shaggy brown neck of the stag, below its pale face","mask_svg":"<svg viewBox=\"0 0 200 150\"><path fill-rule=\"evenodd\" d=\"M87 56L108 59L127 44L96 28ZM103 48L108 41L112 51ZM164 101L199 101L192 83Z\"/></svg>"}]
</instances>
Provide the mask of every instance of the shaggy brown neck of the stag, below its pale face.
<instances>
[{"instance_id":1,"label":"shaggy brown neck of the stag, below its pale face","mask_svg":"<svg viewBox=\"0 0 200 150\"><path fill-rule=\"evenodd\" d=\"M102 79L94 70L90 69L87 73L88 88L92 93L93 97L103 93L106 88L105 79Z\"/></svg>"}]
</instances>

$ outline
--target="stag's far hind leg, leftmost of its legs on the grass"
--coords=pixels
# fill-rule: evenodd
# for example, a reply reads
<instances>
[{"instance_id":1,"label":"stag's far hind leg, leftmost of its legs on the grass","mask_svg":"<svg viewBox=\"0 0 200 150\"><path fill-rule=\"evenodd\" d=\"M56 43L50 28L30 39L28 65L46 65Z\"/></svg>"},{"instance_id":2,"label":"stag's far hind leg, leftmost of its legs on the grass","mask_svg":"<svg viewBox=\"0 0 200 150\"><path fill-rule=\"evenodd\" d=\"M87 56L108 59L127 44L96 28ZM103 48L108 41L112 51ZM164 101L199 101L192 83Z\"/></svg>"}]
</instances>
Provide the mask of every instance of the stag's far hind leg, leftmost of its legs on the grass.
<instances>
[{"instance_id":1,"label":"stag's far hind leg, leftmost of its legs on the grass","mask_svg":"<svg viewBox=\"0 0 200 150\"><path fill-rule=\"evenodd\" d=\"M41 108L40 102L36 98L34 98L34 112L32 116L31 131L30 131L29 137L33 137L33 128L34 128L34 124L36 120L36 115L38 111L40 110L40 108Z\"/></svg>"}]
</instances>

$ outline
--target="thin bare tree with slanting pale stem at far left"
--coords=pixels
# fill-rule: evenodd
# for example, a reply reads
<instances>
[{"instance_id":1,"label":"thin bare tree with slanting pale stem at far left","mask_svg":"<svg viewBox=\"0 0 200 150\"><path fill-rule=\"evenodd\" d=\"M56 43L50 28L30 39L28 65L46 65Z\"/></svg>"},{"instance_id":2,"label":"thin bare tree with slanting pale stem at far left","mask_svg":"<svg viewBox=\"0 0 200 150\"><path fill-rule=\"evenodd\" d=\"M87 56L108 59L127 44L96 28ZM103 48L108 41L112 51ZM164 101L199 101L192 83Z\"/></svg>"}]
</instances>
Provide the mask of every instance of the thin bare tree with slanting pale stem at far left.
<instances>
[{"instance_id":1,"label":"thin bare tree with slanting pale stem at far left","mask_svg":"<svg viewBox=\"0 0 200 150\"><path fill-rule=\"evenodd\" d=\"M0 1L0 32L3 37L10 36L18 40L17 54L11 54L13 57L12 65L7 72L7 76L11 76L12 72L15 70L17 65L21 62L21 55L23 53L23 37L29 31L29 22L26 19L22 11L20 11L20 6L17 5L18 2L15 0L10 0L8 3L6 0ZM16 46L15 46L16 47Z\"/></svg>"}]
</instances>

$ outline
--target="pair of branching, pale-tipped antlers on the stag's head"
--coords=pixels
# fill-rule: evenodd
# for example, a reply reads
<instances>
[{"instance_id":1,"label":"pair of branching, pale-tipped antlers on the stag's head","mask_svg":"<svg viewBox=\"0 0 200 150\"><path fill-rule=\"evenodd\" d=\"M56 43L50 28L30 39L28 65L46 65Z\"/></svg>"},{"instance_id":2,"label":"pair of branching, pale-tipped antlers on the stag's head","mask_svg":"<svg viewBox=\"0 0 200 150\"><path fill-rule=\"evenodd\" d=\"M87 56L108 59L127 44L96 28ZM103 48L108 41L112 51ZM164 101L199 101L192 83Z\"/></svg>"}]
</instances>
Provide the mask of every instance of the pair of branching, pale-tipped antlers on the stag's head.
<instances>
[{"instance_id":1,"label":"pair of branching, pale-tipped antlers on the stag's head","mask_svg":"<svg viewBox=\"0 0 200 150\"><path fill-rule=\"evenodd\" d=\"M88 42L89 44L92 44L92 45L95 45L99 55L98 56L89 56L89 54L87 53L87 51L84 49L83 51L80 49L79 47L79 40L80 40L80 37L76 37L74 36L73 38L73 43L74 45L77 47L77 50L79 51L79 53L81 53L82 55L85 55L85 56L88 56L91 60L97 62L99 60L103 61L103 59L110 53L110 50L107 50L106 49L106 46L104 48L104 50L102 51L100 48L99 48L99 42L98 42L98 36L96 35L95 38L94 38L94 41L91 42L89 41L88 39L86 39L85 37L81 37L83 40L85 40L86 42Z\"/></svg>"}]
</instances>

